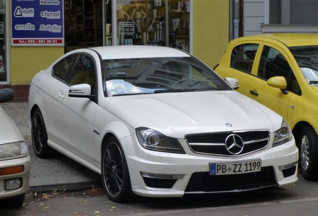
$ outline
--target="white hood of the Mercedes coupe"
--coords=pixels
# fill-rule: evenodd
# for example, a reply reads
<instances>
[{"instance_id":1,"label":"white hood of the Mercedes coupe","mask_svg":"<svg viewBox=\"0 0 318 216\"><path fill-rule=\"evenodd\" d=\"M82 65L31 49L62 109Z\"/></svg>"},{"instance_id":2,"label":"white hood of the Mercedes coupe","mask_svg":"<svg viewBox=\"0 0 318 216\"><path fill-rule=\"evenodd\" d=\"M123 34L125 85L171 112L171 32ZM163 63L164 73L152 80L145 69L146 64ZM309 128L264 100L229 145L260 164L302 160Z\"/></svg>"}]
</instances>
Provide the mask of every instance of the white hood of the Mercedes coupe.
<instances>
[{"instance_id":1,"label":"white hood of the Mercedes coupe","mask_svg":"<svg viewBox=\"0 0 318 216\"><path fill-rule=\"evenodd\" d=\"M175 138L232 130L273 132L282 121L280 115L234 90L105 97L103 107L133 128L148 127Z\"/></svg>"}]
</instances>

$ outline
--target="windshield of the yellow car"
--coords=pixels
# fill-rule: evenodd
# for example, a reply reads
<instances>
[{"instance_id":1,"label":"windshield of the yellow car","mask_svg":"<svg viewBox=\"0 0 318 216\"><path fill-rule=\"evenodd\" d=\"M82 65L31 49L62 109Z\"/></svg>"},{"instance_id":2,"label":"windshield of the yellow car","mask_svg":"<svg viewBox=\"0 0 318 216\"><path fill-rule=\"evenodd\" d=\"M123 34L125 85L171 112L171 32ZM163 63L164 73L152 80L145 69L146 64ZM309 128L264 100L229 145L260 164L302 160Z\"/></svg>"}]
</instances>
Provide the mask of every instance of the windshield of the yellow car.
<instances>
[{"instance_id":1,"label":"windshield of the yellow car","mask_svg":"<svg viewBox=\"0 0 318 216\"><path fill-rule=\"evenodd\" d=\"M318 45L289 47L309 84L318 84Z\"/></svg>"}]
</instances>

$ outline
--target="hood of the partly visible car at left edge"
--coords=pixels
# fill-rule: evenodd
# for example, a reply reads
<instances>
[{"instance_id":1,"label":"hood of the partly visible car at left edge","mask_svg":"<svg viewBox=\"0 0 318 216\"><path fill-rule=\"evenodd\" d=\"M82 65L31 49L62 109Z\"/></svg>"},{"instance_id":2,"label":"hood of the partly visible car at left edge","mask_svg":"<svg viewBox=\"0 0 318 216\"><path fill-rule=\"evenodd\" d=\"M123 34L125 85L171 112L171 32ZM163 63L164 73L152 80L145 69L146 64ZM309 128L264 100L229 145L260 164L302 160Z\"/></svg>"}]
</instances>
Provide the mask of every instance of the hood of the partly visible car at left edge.
<instances>
[{"instance_id":1,"label":"hood of the partly visible car at left edge","mask_svg":"<svg viewBox=\"0 0 318 216\"><path fill-rule=\"evenodd\" d=\"M20 141L20 135L15 123L0 106L0 144Z\"/></svg>"}]
</instances>

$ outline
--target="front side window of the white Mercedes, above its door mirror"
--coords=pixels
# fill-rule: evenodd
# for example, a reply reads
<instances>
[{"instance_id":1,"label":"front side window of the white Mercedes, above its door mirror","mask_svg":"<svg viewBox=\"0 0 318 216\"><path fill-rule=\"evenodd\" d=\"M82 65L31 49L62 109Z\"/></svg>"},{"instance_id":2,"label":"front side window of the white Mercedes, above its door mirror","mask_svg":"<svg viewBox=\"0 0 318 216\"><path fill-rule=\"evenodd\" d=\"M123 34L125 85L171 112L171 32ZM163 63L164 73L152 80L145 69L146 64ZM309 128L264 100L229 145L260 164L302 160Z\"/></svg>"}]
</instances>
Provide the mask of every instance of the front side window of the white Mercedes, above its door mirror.
<instances>
[{"instance_id":1,"label":"front side window of the white Mercedes, above its door mirror","mask_svg":"<svg viewBox=\"0 0 318 216\"><path fill-rule=\"evenodd\" d=\"M96 82L93 60L87 55L79 55L66 82L70 85L87 83L93 87Z\"/></svg>"}]
</instances>

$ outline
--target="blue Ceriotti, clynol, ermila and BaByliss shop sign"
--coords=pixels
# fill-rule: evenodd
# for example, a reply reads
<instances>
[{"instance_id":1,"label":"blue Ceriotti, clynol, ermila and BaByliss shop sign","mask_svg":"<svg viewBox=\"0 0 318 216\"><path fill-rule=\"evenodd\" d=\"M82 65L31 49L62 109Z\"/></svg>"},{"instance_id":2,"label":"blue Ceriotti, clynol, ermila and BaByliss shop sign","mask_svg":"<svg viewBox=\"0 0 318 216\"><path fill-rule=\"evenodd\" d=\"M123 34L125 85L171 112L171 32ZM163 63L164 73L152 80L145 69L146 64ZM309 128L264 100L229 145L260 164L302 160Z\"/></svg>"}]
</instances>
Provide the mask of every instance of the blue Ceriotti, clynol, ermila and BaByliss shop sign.
<instances>
[{"instance_id":1,"label":"blue Ceriotti, clynol, ermila and BaByliss shop sign","mask_svg":"<svg viewBox=\"0 0 318 216\"><path fill-rule=\"evenodd\" d=\"M11 0L12 45L64 45L63 0Z\"/></svg>"}]
</instances>

